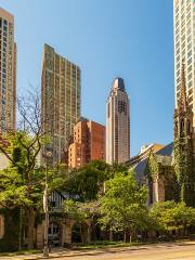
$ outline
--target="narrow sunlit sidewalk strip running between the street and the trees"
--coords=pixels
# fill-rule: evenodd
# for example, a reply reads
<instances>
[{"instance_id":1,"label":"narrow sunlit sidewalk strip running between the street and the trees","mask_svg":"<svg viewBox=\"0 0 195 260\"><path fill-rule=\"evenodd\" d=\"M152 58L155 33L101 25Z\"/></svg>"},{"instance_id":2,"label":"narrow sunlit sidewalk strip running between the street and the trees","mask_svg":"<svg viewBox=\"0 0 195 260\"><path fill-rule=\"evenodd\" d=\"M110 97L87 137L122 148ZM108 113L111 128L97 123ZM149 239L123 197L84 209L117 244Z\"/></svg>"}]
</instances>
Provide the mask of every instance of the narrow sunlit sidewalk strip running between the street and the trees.
<instances>
[{"instance_id":1,"label":"narrow sunlit sidewalk strip running between the street and the trees","mask_svg":"<svg viewBox=\"0 0 195 260\"><path fill-rule=\"evenodd\" d=\"M129 246L129 247L109 247L102 249L66 249L66 248L53 248L50 252L49 259L57 259L57 258L72 258L79 256L96 256L105 252L122 252L127 250L142 250L146 248L160 248L160 247L177 247L177 246L187 246L195 245L195 242L178 242L178 243L158 243L151 245L142 245L142 246ZM1 257L0 260L36 260L36 259L48 259L42 256L42 253L35 255L22 255L22 256L5 256Z\"/></svg>"}]
</instances>

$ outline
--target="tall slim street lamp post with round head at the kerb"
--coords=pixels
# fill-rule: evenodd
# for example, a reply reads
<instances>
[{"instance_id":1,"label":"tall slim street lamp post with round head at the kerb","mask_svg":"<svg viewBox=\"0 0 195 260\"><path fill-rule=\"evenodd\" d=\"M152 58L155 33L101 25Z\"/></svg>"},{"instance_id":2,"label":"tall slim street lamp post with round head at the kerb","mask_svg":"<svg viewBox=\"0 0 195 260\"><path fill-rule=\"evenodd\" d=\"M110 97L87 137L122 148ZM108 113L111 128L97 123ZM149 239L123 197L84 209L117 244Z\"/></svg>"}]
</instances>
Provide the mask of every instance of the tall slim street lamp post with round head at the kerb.
<instances>
[{"instance_id":1,"label":"tall slim street lamp post with round head at the kerb","mask_svg":"<svg viewBox=\"0 0 195 260\"><path fill-rule=\"evenodd\" d=\"M47 152L43 157L46 158L46 187L43 193L43 210L44 210L44 248L43 257L49 257L48 246L48 229L49 229L49 210L48 210L48 159L52 157L52 152Z\"/></svg>"}]
</instances>

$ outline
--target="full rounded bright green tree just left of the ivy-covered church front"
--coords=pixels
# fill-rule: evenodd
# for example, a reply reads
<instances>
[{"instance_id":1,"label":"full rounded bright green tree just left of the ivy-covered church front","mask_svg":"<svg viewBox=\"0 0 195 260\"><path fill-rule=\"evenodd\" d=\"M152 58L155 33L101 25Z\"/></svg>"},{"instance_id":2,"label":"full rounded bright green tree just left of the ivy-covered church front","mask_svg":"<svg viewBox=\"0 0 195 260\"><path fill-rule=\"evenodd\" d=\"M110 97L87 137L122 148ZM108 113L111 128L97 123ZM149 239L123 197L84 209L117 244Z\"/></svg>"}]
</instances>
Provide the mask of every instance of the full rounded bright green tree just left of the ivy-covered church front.
<instances>
[{"instance_id":1,"label":"full rounded bright green tree just left of the ivy-covered church front","mask_svg":"<svg viewBox=\"0 0 195 260\"><path fill-rule=\"evenodd\" d=\"M126 240L127 231L130 240L138 230L146 229L145 186L140 187L134 172L116 174L105 183L105 194L100 198L100 223L110 231L122 231Z\"/></svg>"}]
</instances>

